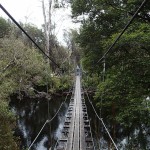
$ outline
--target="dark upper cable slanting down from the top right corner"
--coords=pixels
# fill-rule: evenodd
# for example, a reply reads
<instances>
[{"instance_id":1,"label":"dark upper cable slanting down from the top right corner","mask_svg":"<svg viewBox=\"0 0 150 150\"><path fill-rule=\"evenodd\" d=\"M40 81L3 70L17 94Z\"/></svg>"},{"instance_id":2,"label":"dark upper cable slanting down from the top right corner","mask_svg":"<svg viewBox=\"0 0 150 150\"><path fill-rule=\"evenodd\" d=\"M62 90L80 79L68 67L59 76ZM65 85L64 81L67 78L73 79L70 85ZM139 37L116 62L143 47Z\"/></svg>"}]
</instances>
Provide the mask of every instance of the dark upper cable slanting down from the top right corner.
<instances>
[{"instance_id":1,"label":"dark upper cable slanting down from the top right corner","mask_svg":"<svg viewBox=\"0 0 150 150\"><path fill-rule=\"evenodd\" d=\"M146 2L148 2L148 0L144 0L142 2L142 4L140 5L140 7L137 9L137 11L134 13L134 15L132 16L132 18L130 19L130 21L128 22L128 24L124 27L124 29L122 30L122 32L119 34L119 36L115 39L114 43L108 48L108 50L105 52L105 54L97 61L97 63L99 63L111 50L112 48L115 46L115 44L117 43L117 41L120 39L120 37L124 34L124 32L128 29L129 25L133 22L134 18L136 17L136 15L140 12L140 10L143 8L143 6L146 4Z\"/></svg>"}]
</instances>

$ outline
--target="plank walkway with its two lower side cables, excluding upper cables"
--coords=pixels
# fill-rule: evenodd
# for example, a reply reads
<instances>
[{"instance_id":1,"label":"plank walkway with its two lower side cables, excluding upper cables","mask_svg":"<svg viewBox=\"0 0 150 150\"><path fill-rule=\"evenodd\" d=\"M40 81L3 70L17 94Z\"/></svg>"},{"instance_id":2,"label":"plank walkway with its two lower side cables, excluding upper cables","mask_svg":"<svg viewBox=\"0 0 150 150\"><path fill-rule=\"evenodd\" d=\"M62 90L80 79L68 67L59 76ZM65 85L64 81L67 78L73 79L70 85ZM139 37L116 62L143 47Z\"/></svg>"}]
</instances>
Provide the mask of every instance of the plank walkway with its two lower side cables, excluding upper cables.
<instances>
[{"instance_id":1,"label":"plank walkway with its two lower side cables, excluding upper cables","mask_svg":"<svg viewBox=\"0 0 150 150\"><path fill-rule=\"evenodd\" d=\"M61 136L57 140L54 148L51 147L49 150L52 150L52 149L54 150L95 150L94 140L93 140L92 132L91 132L90 120L88 118L84 95L87 96L87 99L89 103L91 104L95 112L95 115L101 121L105 131L107 132L110 140L112 141L115 147L115 150L118 150L103 119L99 117L92 102L90 101L88 92L85 89L83 89L81 85L81 74L82 74L82 71L77 66L76 71L75 71L75 83L72 88L72 95L71 95L69 107L67 110L67 114L65 116L63 129L61 130ZM37 134L33 142L30 144L28 150L32 148L33 144L39 137L44 127L48 123L51 123L54 120L54 118L58 115L62 105L66 102L67 97L68 97L68 94L64 102L62 102L62 104L58 108L55 115L50 120L49 119L46 120L41 130L39 131L39 133Z\"/></svg>"}]
</instances>

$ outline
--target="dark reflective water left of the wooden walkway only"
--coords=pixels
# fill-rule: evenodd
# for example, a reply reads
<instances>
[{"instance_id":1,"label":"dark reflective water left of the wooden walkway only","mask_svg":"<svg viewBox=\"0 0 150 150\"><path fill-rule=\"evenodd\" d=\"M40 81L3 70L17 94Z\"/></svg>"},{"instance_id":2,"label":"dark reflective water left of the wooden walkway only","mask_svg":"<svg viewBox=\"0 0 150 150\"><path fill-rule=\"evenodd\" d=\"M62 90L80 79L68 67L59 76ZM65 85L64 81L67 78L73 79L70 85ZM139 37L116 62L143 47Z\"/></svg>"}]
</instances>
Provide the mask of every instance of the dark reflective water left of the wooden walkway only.
<instances>
[{"instance_id":1,"label":"dark reflective water left of the wooden walkway only","mask_svg":"<svg viewBox=\"0 0 150 150\"><path fill-rule=\"evenodd\" d=\"M53 97L50 100L50 118L55 115L64 100L65 97ZM11 98L10 108L17 116L15 135L20 137L20 149L26 149L35 139L48 118L48 100L44 98L24 98L18 100L14 96ZM32 146L32 150L47 150L50 146L53 147L55 145L61 134L67 108L68 101L62 105L60 112L51 124L46 124L35 144Z\"/></svg>"}]
</instances>

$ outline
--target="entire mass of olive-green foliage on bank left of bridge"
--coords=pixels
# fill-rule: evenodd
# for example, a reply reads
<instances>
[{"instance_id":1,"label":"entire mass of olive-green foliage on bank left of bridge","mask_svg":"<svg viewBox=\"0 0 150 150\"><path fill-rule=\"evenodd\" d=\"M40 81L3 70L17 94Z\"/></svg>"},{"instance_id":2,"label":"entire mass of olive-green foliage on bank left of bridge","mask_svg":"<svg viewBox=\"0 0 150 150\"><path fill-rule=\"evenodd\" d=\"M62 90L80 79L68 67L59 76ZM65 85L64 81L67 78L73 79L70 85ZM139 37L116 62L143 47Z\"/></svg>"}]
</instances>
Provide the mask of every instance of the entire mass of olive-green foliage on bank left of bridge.
<instances>
[{"instance_id":1,"label":"entire mass of olive-green foliage on bank left of bridge","mask_svg":"<svg viewBox=\"0 0 150 150\"><path fill-rule=\"evenodd\" d=\"M28 24L22 26L43 47L45 39L42 31ZM24 92L34 96L36 87L46 87L47 84L49 92L54 93L68 88L69 82L52 72L50 64L22 32L11 22L0 18L2 29L5 32L0 38L0 149L17 150L18 139L13 137L12 132L15 118L8 109L10 95ZM66 57L65 49L61 47L59 53L61 56L57 60L62 62Z\"/></svg>"}]
</instances>

